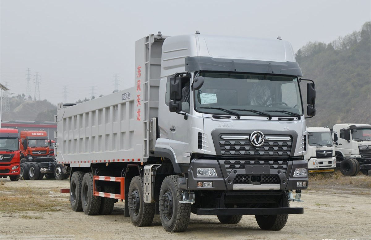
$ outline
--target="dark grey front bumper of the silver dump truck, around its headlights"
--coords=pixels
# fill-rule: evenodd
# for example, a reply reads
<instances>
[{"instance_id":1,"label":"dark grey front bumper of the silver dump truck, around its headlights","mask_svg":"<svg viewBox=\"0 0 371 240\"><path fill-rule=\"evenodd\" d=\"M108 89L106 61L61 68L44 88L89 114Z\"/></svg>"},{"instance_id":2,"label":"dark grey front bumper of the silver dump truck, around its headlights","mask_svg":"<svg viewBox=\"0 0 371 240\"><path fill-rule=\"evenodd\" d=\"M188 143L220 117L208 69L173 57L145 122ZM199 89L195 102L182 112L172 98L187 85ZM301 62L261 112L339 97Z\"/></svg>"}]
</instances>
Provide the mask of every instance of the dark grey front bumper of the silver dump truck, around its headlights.
<instances>
[{"instance_id":1,"label":"dark grey front bumper of the silver dump truck, around its headlights","mask_svg":"<svg viewBox=\"0 0 371 240\"><path fill-rule=\"evenodd\" d=\"M197 168L215 168L217 176L197 177ZM293 177L295 168L307 169L308 162L306 160L193 159L188 169L188 178L181 181L179 185L180 188L187 190L307 189L308 173L306 177ZM198 182L212 182L212 187L198 187ZM299 186L298 182L306 182L306 186Z\"/></svg>"}]
</instances>

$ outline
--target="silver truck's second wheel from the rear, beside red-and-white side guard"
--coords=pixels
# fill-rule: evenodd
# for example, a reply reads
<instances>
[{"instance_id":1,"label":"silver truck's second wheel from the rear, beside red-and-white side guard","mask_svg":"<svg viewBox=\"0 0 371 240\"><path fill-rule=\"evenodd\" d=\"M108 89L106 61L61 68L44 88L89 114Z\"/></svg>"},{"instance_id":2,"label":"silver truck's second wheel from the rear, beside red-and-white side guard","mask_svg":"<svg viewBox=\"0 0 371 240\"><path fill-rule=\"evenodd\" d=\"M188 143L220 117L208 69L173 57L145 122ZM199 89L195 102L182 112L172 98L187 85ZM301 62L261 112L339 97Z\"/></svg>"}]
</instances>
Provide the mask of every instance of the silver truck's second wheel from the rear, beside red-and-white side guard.
<instances>
[{"instance_id":1,"label":"silver truck's second wheel from the rear, beside red-and-white side guard","mask_svg":"<svg viewBox=\"0 0 371 240\"><path fill-rule=\"evenodd\" d=\"M81 185L82 210L86 215L96 215L101 207L101 197L93 195L93 173L85 173Z\"/></svg>"}]
</instances>

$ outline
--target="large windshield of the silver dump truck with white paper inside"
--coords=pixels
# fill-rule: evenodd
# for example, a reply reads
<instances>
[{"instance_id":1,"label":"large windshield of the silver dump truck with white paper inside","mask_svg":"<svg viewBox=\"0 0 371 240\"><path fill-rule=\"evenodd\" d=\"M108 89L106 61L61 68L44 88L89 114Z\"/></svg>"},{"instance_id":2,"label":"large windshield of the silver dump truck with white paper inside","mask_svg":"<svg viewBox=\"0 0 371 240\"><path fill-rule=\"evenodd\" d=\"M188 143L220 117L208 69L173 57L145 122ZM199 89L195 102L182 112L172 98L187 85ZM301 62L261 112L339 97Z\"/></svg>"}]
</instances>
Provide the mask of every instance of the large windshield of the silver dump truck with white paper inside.
<instances>
[{"instance_id":1,"label":"large windshield of the silver dump truck with white paper inside","mask_svg":"<svg viewBox=\"0 0 371 240\"><path fill-rule=\"evenodd\" d=\"M243 116L295 117L303 114L298 79L292 76L199 72L204 84L194 91L195 110ZM223 108L223 109L220 109Z\"/></svg>"}]
</instances>

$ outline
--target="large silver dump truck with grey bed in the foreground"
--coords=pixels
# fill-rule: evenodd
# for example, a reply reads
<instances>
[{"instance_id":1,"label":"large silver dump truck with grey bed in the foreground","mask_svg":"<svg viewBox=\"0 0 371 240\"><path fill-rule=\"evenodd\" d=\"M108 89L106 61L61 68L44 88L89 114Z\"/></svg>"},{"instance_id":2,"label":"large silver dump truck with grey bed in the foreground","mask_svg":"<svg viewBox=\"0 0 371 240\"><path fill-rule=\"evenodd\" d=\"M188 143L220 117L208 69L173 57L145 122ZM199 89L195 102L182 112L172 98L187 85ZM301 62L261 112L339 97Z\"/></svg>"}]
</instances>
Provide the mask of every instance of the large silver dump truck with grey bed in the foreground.
<instances>
[{"instance_id":1,"label":"large silver dump truck with grey bed in the foreground","mask_svg":"<svg viewBox=\"0 0 371 240\"><path fill-rule=\"evenodd\" d=\"M55 152L72 209L110 214L125 200L135 226L160 214L166 231L184 231L194 213L230 224L255 215L260 228L282 229L303 213L289 202L308 187L299 85L309 117L315 85L301 76L280 38L138 40L134 87L58 104Z\"/></svg>"}]
</instances>

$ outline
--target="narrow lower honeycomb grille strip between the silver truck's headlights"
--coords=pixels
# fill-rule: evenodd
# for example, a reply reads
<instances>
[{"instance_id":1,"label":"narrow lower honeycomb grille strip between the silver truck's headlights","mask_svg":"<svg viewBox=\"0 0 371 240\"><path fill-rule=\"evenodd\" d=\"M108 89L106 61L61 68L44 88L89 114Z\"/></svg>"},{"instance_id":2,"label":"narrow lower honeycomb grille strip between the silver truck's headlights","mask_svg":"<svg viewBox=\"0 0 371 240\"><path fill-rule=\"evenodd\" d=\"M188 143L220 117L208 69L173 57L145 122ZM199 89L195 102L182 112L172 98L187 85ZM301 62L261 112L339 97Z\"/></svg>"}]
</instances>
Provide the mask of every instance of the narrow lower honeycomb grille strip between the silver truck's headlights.
<instances>
[{"instance_id":1,"label":"narrow lower honeycomb grille strip between the silver truck's headlights","mask_svg":"<svg viewBox=\"0 0 371 240\"><path fill-rule=\"evenodd\" d=\"M227 173L230 173L233 169L245 169L248 165L260 165L260 166L269 166L270 169L280 169L283 173L286 172L289 162L286 160L273 161L273 160L250 160L250 161L239 161L239 160L224 160L221 161L224 163L224 166L227 170ZM221 164L222 165L222 164Z\"/></svg>"}]
</instances>

